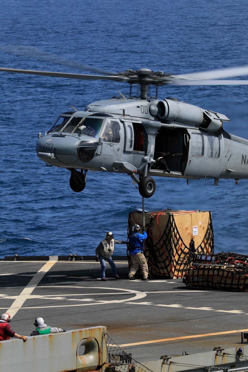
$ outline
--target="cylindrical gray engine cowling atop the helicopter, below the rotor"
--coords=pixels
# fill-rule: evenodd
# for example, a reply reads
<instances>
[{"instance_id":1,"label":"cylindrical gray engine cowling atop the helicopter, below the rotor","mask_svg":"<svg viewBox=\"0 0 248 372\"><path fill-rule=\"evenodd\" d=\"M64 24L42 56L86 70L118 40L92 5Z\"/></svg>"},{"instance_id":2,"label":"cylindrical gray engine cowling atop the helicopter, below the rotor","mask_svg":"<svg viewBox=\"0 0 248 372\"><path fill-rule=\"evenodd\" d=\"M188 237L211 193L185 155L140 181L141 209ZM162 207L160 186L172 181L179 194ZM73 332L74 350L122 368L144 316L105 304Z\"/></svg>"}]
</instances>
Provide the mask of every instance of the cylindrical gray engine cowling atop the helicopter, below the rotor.
<instances>
[{"instance_id":1,"label":"cylindrical gray engine cowling atop the helicopter, below the rotor","mask_svg":"<svg viewBox=\"0 0 248 372\"><path fill-rule=\"evenodd\" d=\"M159 101L157 108L157 115L161 120L196 125L208 132L217 132L222 126L222 121L229 121L223 114L171 99Z\"/></svg>"}]
</instances>

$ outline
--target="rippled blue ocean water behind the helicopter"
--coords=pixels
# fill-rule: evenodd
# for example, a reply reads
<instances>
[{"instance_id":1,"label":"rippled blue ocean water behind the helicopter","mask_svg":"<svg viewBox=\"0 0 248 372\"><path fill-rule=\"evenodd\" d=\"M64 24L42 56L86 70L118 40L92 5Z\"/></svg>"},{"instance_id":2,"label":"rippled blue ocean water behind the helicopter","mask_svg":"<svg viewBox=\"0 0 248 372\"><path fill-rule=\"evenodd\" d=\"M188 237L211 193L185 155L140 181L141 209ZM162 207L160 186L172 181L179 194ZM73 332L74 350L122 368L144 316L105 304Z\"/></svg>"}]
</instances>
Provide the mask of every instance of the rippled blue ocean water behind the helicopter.
<instances>
[{"instance_id":1,"label":"rippled blue ocean water behind the helicopter","mask_svg":"<svg viewBox=\"0 0 248 372\"><path fill-rule=\"evenodd\" d=\"M1 3L0 46L28 45L113 72L236 67L248 64L247 10L247 0L9 0ZM87 73L1 50L0 67ZM117 89L129 94L125 83L0 73L0 257L94 254L108 230L126 239L128 213L142 207L128 175L88 172L77 194L70 172L46 167L35 152L38 132L69 105L81 110ZM247 86L161 87L158 96L224 113L224 129L248 138ZM248 180L220 180L218 187L213 180L155 181L146 210L211 210L215 251L248 253Z\"/></svg>"}]
</instances>

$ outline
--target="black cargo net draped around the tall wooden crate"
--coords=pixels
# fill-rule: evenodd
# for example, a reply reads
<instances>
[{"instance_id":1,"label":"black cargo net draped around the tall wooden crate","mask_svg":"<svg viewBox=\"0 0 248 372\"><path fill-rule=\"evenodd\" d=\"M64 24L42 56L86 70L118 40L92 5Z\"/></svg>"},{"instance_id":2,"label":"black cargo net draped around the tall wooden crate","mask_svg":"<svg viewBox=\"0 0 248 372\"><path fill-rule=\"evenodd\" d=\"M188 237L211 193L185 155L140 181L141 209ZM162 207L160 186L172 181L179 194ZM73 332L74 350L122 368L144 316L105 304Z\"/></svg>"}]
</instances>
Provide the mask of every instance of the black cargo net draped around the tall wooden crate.
<instances>
[{"instance_id":1,"label":"black cargo net draped around the tall wooden crate","mask_svg":"<svg viewBox=\"0 0 248 372\"><path fill-rule=\"evenodd\" d=\"M164 214L164 213L162 213ZM184 244L183 239L175 224L174 215L167 212L169 215L167 225L164 232L161 232L158 222L158 216L160 213L152 214L149 230L147 232L148 238L145 242L145 257L148 261L149 276L152 278L163 277L163 278L183 278L186 271L192 266L195 254L207 254L212 255L214 244L213 244L213 227L212 227L212 216L209 212L209 224L206 229L206 234L202 240L202 243L198 246L194 246L193 238L190 241L189 247ZM128 231L131 231L132 223L129 214L129 227ZM132 218L134 219L133 215ZM154 222L160 230L160 237L155 238L151 233L151 225ZM128 248L129 249L129 248ZM129 266L132 266L131 257L127 250ZM137 272L141 273L141 270Z\"/></svg>"}]
</instances>

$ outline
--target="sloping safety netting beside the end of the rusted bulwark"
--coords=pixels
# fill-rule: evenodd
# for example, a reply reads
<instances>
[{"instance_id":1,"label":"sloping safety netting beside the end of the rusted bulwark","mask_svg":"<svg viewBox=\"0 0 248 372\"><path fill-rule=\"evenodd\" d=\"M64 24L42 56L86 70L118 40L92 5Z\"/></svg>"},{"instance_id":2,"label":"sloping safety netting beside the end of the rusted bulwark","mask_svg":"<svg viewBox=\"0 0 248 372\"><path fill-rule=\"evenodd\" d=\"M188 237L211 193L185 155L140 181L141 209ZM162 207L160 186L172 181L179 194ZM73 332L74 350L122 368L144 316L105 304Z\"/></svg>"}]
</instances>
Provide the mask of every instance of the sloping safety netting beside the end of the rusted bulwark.
<instances>
[{"instance_id":1,"label":"sloping safety netting beside the end of the rusted bulwark","mask_svg":"<svg viewBox=\"0 0 248 372\"><path fill-rule=\"evenodd\" d=\"M117 343L104 333L107 355L109 358L109 368L112 372L152 372L151 369L133 359L131 353L126 353Z\"/></svg>"}]
</instances>

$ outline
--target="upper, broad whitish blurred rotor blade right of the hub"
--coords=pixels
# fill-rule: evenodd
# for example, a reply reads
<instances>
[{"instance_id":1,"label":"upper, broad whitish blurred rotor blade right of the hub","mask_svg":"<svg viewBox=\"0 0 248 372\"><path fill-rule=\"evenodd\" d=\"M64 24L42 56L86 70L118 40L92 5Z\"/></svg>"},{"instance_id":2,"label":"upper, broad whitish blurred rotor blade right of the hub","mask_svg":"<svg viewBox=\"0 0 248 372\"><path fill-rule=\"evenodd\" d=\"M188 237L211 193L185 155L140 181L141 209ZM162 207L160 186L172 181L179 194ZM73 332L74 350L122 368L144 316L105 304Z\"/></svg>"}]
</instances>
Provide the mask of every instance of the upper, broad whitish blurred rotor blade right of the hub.
<instances>
[{"instance_id":1,"label":"upper, broad whitish blurred rotor blade right of the hub","mask_svg":"<svg viewBox=\"0 0 248 372\"><path fill-rule=\"evenodd\" d=\"M186 75L175 75L174 78L179 79L222 79L225 77L236 77L248 75L248 66L223 68L222 70L203 71Z\"/></svg>"}]
</instances>

